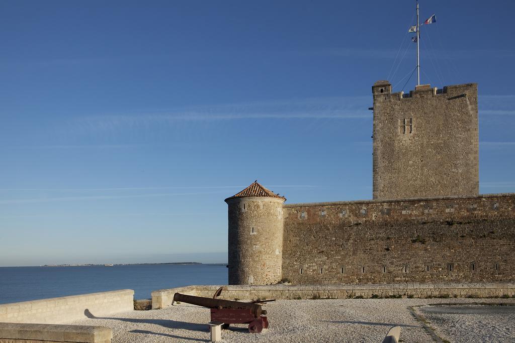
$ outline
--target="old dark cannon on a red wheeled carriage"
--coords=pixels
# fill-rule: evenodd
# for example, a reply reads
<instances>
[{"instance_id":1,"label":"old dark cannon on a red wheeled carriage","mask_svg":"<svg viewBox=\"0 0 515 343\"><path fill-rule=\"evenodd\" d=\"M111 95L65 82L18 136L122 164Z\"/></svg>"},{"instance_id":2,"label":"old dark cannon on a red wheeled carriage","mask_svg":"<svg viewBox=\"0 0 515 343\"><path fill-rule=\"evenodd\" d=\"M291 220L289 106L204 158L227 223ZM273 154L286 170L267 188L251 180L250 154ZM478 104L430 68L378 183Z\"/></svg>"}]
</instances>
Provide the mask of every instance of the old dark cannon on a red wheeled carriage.
<instances>
[{"instance_id":1,"label":"old dark cannon on a red wheeled carriage","mask_svg":"<svg viewBox=\"0 0 515 343\"><path fill-rule=\"evenodd\" d=\"M224 323L222 329L229 328L230 324L249 324L250 333L260 333L263 329L268 328L266 311L261 308L260 304L216 299L220 292L219 289L213 298L176 293L174 302L186 302L211 309L211 321Z\"/></svg>"}]
</instances>

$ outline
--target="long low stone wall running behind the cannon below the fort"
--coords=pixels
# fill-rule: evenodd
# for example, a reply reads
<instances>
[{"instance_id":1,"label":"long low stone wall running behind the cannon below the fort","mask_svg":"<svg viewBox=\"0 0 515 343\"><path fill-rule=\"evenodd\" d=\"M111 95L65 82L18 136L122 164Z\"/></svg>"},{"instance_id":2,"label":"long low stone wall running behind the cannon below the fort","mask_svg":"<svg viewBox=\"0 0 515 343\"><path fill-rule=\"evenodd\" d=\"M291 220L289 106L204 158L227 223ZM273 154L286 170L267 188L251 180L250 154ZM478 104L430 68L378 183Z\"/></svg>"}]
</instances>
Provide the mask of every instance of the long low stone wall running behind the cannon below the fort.
<instances>
[{"instance_id":1,"label":"long low stone wall running behind the cannon below the fort","mask_svg":"<svg viewBox=\"0 0 515 343\"><path fill-rule=\"evenodd\" d=\"M171 305L176 292L212 298L219 285L188 286L152 292L152 309ZM449 283L449 284L363 284L363 285L229 285L220 299L310 299L310 298L388 298L388 297L474 297L515 296L515 283Z\"/></svg>"}]
</instances>

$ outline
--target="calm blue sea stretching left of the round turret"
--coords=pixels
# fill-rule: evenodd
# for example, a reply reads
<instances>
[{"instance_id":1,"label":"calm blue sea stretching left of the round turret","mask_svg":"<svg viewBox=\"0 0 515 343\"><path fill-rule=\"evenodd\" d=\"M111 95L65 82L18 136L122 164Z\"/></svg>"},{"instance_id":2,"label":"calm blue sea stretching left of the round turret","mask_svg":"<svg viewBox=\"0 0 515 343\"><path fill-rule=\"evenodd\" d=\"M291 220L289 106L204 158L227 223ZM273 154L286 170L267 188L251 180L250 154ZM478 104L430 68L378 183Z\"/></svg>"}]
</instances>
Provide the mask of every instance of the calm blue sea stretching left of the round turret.
<instances>
[{"instance_id":1,"label":"calm blue sea stretching left of the round turret","mask_svg":"<svg viewBox=\"0 0 515 343\"><path fill-rule=\"evenodd\" d=\"M0 304L124 289L150 299L163 288L227 282L225 264L0 267Z\"/></svg>"}]
</instances>

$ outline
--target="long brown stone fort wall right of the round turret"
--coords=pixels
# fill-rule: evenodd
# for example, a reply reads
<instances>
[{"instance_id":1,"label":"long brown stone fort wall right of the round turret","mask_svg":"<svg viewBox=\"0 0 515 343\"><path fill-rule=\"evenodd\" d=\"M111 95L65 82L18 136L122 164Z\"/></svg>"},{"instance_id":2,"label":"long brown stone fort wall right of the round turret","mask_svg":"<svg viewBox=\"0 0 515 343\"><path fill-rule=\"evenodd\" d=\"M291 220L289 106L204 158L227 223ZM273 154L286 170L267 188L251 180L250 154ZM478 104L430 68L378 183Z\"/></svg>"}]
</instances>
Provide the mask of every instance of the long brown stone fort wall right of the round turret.
<instances>
[{"instance_id":1,"label":"long brown stone fort wall right of the round turret","mask_svg":"<svg viewBox=\"0 0 515 343\"><path fill-rule=\"evenodd\" d=\"M295 284L515 281L515 194L283 205Z\"/></svg>"}]
</instances>

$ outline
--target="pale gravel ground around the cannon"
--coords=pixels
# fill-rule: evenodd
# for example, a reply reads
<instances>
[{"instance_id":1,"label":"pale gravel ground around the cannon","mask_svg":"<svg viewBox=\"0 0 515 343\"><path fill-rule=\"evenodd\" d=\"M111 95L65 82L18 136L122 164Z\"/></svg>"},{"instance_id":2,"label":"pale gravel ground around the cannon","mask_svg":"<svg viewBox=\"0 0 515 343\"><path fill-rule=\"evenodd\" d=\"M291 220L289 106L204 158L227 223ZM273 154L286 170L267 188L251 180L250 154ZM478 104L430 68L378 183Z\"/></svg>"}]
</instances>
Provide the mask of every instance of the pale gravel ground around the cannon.
<instances>
[{"instance_id":1,"label":"pale gravel ground around the cannon","mask_svg":"<svg viewBox=\"0 0 515 343\"><path fill-rule=\"evenodd\" d=\"M429 303L493 302L500 299L327 299L278 300L263 305L268 311L270 328L250 334L246 325L232 325L222 331L225 342L373 342L380 343L390 327L400 326L405 342L433 342L408 309ZM511 299L510 303L515 304ZM504 301L506 302L506 301ZM473 342L486 323L486 341L511 342L515 338L514 312L489 313L456 311L439 313L435 309L450 306L416 308L430 321L438 335L451 342ZM466 308L467 306L459 306ZM476 306L499 309L501 306ZM515 310L515 306L502 306ZM442 311L440 311L442 312ZM445 311L443 311L445 312ZM94 313L93 313L94 315ZM163 310L131 311L106 318L91 318L72 324L105 326L113 329L113 343L150 343L209 341L209 310L181 303Z\"/></svg>"}]
</instances>

